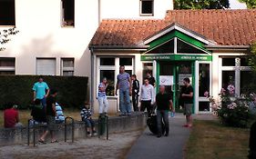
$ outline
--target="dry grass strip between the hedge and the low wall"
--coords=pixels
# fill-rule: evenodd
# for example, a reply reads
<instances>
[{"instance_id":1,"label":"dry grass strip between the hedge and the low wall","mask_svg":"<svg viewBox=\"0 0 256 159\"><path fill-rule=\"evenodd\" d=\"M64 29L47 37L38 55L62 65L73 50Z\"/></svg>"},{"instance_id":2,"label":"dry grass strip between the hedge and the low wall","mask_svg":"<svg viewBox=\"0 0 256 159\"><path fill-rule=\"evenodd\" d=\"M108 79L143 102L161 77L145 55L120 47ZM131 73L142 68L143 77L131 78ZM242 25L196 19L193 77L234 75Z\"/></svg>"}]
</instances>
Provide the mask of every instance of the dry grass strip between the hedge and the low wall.
<instances>
[{"instance_id":1,"label":"dry grass strip between the hedge and the low wall","mask_svg":"<svg viewBox=\"0 0 256 159\"><path fill-rule=\"evenodd\" d=\"M27 120L31 119L30 110L19 110L19 120L22 124L27 125ZM80 110L78 109L65 109L63 110L65 116L71 116L75 120L80 121ZM109 116L114 116L117 114L108 114ZM98 114L94 114L92 117L96 119ZM4 127L4 111L0 111L0 127Z\"/></svg>"}]
</instances>

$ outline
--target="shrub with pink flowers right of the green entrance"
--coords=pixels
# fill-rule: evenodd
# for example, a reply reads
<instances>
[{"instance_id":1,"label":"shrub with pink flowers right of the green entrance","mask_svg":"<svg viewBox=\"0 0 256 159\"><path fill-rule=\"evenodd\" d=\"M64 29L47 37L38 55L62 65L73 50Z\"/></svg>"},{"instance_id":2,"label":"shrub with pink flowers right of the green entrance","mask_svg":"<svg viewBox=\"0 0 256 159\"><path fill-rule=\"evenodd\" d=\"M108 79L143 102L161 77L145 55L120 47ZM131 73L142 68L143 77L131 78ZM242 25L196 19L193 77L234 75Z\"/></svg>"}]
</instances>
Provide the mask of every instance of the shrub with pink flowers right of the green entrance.
<instances>
[{"instance_id":1,"label":"shrub with pink flowers right of the green entrance","mask_svg":"<svg viewBox=\"0 0 256 159\"><path fill-rule=\"evenodd\" d=\"M251 94L235 96L234 86L230 84L225 90L221 89L219 104L210 98L212 109L219 116L222 124L234 127L247 127L250 122L250 105L256 104L254 101L256 95Z\"/></svg>"}]
</instances>

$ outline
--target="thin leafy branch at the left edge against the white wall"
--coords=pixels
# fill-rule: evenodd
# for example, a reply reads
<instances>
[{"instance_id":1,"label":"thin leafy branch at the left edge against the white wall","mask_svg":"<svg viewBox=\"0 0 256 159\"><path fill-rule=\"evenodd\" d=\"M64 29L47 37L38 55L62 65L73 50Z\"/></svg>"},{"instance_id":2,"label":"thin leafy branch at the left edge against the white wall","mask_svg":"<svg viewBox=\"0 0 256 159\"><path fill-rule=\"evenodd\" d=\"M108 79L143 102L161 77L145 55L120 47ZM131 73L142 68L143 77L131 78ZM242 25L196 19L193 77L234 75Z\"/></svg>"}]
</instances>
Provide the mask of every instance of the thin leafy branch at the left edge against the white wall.
<instances>
[{"instance_id":1,"label":"thin leafy branch at the left edge against the white wall","mask_svg":"<svg viewBox=\"0 0 256 159\"><path fill-rule=\"evenodd\" d=\"M5 47L2 45L5 45L6 43L8 43L11 39L10 36L12 35L16 35L19 31L16 30L16 28L9 28L9 29L4 29L4 30L0 30L0 51L5 50Z\"/></svg>"}]
</instances>

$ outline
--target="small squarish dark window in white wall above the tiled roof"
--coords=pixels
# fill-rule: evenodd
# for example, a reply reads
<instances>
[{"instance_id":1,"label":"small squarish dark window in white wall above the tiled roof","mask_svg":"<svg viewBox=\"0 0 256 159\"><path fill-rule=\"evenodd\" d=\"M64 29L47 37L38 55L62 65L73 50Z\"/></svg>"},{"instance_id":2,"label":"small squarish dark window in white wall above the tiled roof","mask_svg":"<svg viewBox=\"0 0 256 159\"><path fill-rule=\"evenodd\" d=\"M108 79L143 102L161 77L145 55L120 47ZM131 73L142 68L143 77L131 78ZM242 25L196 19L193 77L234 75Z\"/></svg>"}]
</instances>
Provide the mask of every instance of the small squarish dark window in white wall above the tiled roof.
<instances>
[{"instance_id":1,"label":"small squarish dark window in white wall above the tiled roof","mask_svg":"<svg viewBox=\"0 0 256 159\"><path fill-rule=\"evenodd\" d=\"M140 15L154 15L153 0L140 0Z\"/></svg>"}]
</instances>

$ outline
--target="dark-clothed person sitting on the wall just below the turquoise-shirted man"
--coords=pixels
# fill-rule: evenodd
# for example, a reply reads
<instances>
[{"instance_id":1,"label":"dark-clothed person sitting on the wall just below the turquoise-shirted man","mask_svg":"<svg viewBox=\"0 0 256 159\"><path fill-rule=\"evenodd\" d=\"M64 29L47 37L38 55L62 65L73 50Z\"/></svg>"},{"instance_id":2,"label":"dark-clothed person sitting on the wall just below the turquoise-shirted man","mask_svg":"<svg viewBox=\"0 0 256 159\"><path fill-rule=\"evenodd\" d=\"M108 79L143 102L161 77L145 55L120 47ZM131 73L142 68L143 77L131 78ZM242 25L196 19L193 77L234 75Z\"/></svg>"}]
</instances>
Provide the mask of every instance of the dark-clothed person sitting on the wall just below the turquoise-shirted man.
<instances>
[{"instance_id":1,"label":"dark-clothed person sitting on the wall just below the turquoise-shirted man","mask_svg":"<svg viewBox=\"0 0 256 159\"><path fill-rule=\"evenodd\" d=\"M40 99L35 100L31 116L33 120L31 120L30 124L46 124L46 112Z\"/></svg>"}]
</instances>

